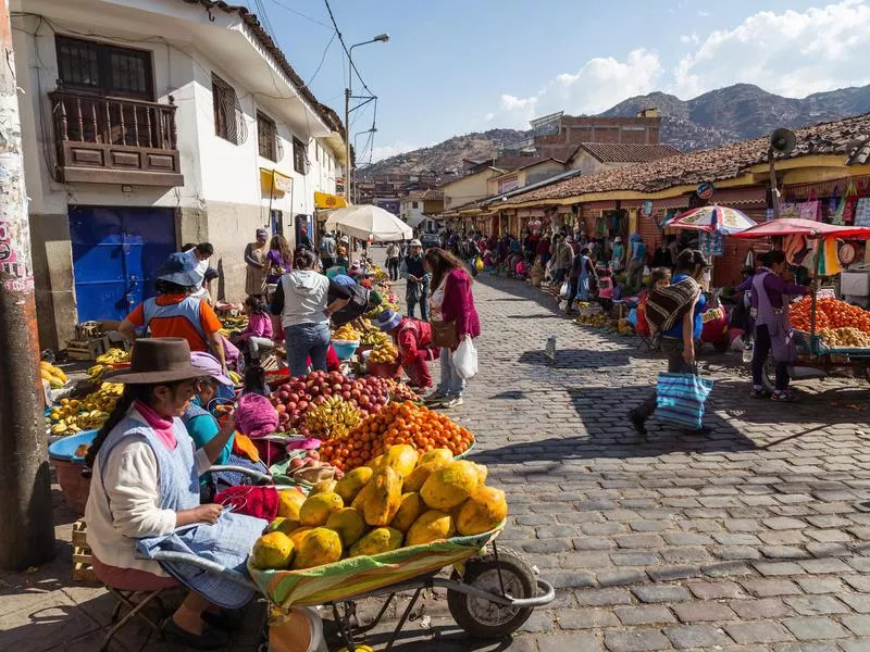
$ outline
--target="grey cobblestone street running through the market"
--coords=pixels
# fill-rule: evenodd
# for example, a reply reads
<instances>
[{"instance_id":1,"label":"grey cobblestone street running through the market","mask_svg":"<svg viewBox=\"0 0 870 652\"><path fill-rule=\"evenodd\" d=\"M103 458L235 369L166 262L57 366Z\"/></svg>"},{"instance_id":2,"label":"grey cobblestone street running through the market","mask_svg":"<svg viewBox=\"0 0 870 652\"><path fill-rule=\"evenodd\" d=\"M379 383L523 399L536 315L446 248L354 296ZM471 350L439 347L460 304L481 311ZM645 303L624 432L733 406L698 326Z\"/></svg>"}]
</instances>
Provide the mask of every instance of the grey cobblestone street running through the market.
<instances>
[{"instance_id":1,"label":"grey cobblestone street running through the market","mask_svg":"<svg viewBox=\"0 0 870 652\"><path fill-rule=\"evenodd\" d=\"M443 593L430 597L396 649L870 650L863 381L806 384L795 404L753 401L738 356L705 350L711 432L654 427L645 442L625 413L662 361L638 355L634 338L576 326L515 280L481 276L475 298L481 372L450 415L508 493L499 543L535 564L557 600L512 640L481 644L457 630ZM550 335L555 361L543 352ZM0 581L0 649L98 648L111 602L69 581L66 548L32 577ZM113 649L174 649L147 634L132 628Z\"/></svg>"}]
</instances>

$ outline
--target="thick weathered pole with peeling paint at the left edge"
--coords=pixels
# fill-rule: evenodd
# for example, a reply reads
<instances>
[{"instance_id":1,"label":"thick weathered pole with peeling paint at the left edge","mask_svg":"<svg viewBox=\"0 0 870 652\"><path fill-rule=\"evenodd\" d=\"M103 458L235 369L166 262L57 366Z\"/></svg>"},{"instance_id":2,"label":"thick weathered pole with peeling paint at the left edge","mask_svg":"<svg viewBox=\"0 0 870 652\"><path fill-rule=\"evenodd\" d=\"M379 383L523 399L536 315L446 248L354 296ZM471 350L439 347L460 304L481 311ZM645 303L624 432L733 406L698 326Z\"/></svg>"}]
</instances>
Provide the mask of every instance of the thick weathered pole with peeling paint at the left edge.
<instances>
[{"instance_id":1,"label":"thick weathered pole with peeling paint at the left edge","mask_svg":"<svg viewBox=\"0 0 870 652\"><path fill-rule=\"evenodd\" d=\"M0 48L0 568L21 570L54 556L54 524L9 0Z\"/></svg>"}]
</instances>

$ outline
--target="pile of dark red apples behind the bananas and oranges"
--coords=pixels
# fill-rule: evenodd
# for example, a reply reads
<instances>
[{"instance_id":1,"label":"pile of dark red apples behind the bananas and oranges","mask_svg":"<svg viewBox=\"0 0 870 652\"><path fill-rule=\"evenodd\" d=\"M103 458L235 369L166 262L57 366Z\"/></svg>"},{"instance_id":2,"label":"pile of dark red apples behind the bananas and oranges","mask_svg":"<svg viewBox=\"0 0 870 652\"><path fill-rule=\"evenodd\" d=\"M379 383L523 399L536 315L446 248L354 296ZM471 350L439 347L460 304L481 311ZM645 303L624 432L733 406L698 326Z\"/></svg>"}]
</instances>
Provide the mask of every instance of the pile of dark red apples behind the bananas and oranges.
<instances>
[{"instance_id":1,"label":"pile of dark red apples behind the bananas and oranges","mask_svg":"<svg viewBox=\"0 0 870 652\"><path fill-rule=\"evenodd\" d=\"M278 413L278 429L296 430L309 437L304 423L310 405L320 405L328 397L340 397L352 403L362 416L380 412L389 400L387 384L383 378L366 376L351 379L339 372L311 372L296 376L272 392L272 404Z\"/></svg>"}]
</instances>

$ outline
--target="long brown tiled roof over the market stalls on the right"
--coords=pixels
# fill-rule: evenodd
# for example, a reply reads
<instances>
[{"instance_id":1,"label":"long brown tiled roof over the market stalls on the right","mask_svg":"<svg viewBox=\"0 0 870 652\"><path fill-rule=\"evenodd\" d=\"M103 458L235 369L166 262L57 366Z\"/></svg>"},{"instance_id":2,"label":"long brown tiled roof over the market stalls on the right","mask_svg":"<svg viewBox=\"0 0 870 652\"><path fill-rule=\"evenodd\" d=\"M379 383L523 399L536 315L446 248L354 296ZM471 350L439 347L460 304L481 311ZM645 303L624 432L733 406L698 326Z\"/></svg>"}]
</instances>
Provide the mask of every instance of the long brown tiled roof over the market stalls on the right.
<instances>
[{"instance_id":1,"label":"long brown tiled roof over the market stalls on the right","mask_svg":"<svg viewBox=\"0 0 870 652\"><path fill-rule=\"evenodd\" d=\"M870 113L796 129L795 135L797 136L795 149L787 156L778 154L778 160L809 155L844 155L848 158L846 164L855 164L870 156ZM732 179L754 165L767 163L768 146L769 139L763 137L700 152L675 154L649 163L572 177L514 196L506 203L555 200L619 190L656 192L675 186Z\"/></svg>"}]
</instances>

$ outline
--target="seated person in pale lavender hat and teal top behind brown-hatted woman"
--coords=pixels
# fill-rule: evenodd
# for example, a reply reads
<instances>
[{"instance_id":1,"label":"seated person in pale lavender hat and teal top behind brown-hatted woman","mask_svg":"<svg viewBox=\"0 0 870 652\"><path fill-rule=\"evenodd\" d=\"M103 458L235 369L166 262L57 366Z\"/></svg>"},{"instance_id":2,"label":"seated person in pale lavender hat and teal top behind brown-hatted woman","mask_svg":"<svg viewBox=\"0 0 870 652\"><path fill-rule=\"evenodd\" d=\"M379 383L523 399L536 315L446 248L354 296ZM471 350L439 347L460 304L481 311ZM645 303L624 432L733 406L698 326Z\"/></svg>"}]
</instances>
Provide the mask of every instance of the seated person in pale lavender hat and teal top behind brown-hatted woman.
<instances>
[{"instance_id":1,"label":"seated person in pale lavender hat and teal top behind brown-hatted woman","mask_svg":"<svg viewBox=\"0 0 870 652\"><path fill-rule=\"evenodd\" d=\"M182 421L187 428L187 434L194 440L197 449L203 448L221 434L215 411L217 404L227 403L225 397L235 398L233 381L221 373L221 364L209 353L195 352L190 363L202 372L202 377L197 380L196 393L190 399ZM265 464L260 462L257 447L245 435L233 432L214 460L217 465L244 466L260 473L269 473ZM221 471L203 474L200 477L202 490L200 494L206 502L211 502L214 493L243 482L244 476L239 472Z\"/></svg>"}]
</instances>

